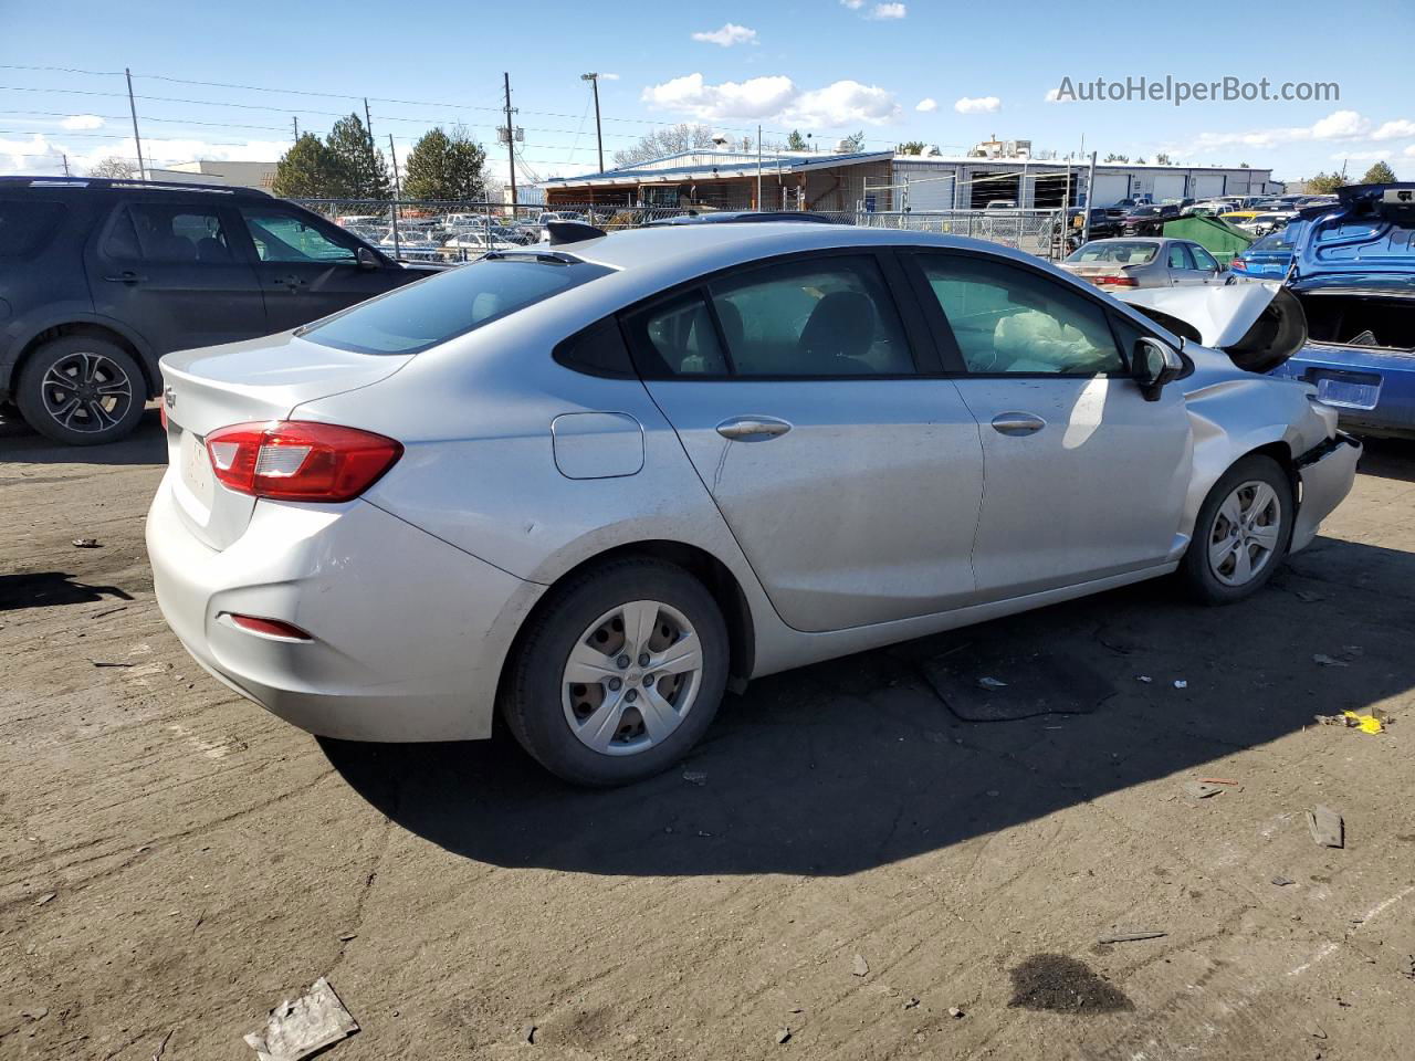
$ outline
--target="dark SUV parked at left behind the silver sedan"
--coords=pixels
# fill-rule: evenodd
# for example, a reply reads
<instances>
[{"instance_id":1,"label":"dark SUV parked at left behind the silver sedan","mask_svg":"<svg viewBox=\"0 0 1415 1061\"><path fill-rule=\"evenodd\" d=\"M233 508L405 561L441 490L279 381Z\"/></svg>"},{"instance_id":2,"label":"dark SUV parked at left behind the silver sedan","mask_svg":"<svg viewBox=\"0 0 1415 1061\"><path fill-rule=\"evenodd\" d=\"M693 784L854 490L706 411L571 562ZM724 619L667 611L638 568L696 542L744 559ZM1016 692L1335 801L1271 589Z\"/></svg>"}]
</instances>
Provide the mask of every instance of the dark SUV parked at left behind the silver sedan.
<instances>
[{"instance_id":1,"label":"dark SUV parked at left behind the silver sedan","mask_svg":"<svg viewBox=\"0 0 1415 1061\"><path fill-rule=\"evenodd\" d=\"M400 287L400 265L252 188L0 177L0 400L64 443L127 434L157 359Z\"/></svg>"}]
</instances>

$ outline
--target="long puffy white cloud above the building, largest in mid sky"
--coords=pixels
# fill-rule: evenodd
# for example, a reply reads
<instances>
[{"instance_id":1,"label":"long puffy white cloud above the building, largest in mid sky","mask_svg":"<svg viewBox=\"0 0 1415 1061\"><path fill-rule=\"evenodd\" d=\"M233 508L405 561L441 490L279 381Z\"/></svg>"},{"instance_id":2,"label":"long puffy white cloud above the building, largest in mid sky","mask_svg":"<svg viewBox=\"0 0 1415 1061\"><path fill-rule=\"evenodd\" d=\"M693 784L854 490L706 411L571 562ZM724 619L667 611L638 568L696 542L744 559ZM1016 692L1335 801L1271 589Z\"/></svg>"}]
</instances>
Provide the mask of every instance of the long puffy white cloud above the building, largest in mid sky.
<instances>
[{"instance_id":1,"label":"long puffy white cloud above the building, largest in mid sky","mask_svg":"<svg viewBox=\"0 0 1415 1061\"><path fill-rule=\"evenodd\" d=\"M836 81L821 89L802 91L784 75L709 85L702 74L688 74L661 85L649 85L641 99L649 106L692 115L703 122L778 117L835 127L880 124L893 120L900 112L893 93L877 85Z\"/></svg>"}]
</instances>

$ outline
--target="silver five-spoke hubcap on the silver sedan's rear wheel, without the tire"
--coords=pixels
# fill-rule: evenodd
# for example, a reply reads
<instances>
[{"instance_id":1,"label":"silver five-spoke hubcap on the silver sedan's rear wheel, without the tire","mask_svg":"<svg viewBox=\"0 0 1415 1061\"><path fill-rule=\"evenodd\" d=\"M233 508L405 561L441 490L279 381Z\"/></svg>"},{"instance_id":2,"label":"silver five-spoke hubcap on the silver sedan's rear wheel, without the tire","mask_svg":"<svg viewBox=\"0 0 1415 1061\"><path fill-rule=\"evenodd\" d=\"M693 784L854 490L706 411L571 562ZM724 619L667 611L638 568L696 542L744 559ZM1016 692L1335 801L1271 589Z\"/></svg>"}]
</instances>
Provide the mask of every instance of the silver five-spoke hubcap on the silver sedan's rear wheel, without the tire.
<instances>
[{"instance_id":1,"label":"silver five-spoke hubcap on the silver sedan's rear wheel, without the tire","mask_svg":"<svg viewBox=\"0 0 1415 1061\"><path fill-rule=\"evenodd\" d=\"M570 731L604 755L665 741L702 688L703 651L692 622L661 601L600 615L574 642L560 680Z\"/></svg>"}]
</instances>

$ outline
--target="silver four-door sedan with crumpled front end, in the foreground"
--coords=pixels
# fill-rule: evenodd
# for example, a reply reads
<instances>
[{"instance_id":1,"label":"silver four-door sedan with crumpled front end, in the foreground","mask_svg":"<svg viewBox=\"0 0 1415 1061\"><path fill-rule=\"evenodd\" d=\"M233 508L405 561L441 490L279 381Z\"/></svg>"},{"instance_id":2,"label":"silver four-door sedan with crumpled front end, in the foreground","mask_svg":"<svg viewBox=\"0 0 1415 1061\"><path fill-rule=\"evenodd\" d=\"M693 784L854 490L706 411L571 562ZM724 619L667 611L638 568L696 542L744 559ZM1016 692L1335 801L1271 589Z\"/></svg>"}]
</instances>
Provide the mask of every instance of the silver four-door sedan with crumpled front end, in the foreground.
<instances>
[{"instance_id":1,"label":"silver four-door sedan with crumpled front end, in the foreground","mask_svg":"<svg viewBox=\"0 0 1415 1061\"><path fill-rule=\"evenodd\" d=\"M1172 572L1240 600L1353 482L1312 388L1030 255L573 232L163 361L147 552L205 668L331 737L499 712L620 784L681 763L729 683Z\"/></svg>"}]
</instances>

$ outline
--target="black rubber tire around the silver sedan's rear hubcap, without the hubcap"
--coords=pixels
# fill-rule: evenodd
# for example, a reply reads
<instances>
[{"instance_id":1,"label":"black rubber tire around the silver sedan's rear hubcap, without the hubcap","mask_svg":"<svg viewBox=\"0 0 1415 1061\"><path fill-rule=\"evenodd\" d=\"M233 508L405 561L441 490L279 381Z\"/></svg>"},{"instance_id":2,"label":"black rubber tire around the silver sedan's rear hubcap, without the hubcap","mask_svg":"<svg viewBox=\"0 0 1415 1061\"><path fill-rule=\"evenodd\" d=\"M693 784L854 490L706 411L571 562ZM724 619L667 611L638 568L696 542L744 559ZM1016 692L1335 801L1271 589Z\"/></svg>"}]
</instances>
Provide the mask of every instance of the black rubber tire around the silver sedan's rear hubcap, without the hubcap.
<instances>
[{"instance_id":1,"label":"black rubber tire around the silver sedan's rear hubcap, without the hubcap","mask_svg":"<svg viewBox=\"0 0 1415 1061\"><path fill-rule=\"evenodd\" d=\"M642 600L679 611L696 631L702 649L696 699L661 743L633 754L596 751L570 729L562 700L565 668L590 624ZM727 627L700 581L651 557L610 560L558 586L538 608L508 668L501 713L521 746L556 777L576 785L624 785L666 770L698 743L722 703L727 665Z\"/></svg>"}]
</instances>

